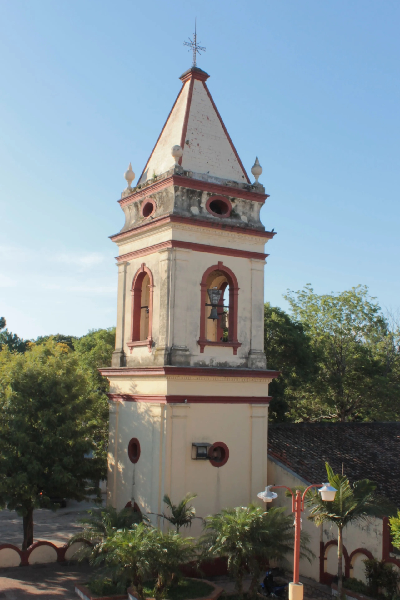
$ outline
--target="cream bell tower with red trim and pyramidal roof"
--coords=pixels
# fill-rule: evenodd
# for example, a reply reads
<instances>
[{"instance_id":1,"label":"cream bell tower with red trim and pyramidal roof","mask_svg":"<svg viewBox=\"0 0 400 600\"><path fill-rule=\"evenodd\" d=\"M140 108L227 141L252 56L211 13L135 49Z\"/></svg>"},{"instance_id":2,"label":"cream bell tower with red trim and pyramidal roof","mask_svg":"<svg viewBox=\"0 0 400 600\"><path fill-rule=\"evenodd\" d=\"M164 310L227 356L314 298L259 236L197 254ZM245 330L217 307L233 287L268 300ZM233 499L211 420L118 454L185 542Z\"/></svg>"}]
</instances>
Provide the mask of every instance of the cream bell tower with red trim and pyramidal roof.
<instances>
[{"instance_id":1,"label":"cream bell tower with red trim and pyramidal roof","mask_svg":"<svg viewBox=\"0 0 400 600\"><path fill-rule=\"evenodd\" d=\"M118 310L110 381L108 502L197 514L257 500L266 485L263 351L267 194L251 183L206 80L192 67L136 187L119 204ZM194 532L196 533L196 532Z\"/></svg>"}]
</instances>

